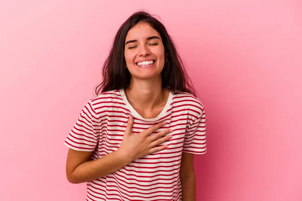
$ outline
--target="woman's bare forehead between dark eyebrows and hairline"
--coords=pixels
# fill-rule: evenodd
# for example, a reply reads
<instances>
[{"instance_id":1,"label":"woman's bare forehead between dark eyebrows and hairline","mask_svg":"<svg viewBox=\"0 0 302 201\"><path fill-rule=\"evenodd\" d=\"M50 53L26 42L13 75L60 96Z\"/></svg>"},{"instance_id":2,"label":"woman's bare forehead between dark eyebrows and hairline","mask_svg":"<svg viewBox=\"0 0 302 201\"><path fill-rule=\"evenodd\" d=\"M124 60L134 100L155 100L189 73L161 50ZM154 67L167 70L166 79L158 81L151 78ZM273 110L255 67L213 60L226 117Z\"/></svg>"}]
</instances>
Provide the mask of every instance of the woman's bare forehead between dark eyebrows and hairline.
<instances>
[{"instance_id":1,"label":"woman's bare forehead between dark eyebrows and hairline","mask_svg":"<svg viewBox=\"0 0 302 201\"><path fill-rule=\"evenodd\" d=\"M146 39L150 36L157 36L162 39L160 33L153 29L149 24L138 23L128 31L126 41Z\"/></svg>"}]
</instances>

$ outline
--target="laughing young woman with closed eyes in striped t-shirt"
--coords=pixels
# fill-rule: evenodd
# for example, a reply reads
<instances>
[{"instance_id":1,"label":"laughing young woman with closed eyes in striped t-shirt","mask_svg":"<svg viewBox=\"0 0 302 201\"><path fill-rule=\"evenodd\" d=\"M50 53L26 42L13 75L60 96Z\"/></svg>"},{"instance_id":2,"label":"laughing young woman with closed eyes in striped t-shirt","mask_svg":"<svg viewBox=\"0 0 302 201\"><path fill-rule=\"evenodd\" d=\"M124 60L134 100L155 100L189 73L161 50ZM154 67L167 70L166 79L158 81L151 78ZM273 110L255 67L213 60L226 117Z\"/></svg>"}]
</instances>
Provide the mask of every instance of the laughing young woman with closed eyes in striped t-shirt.
<instances>
[{"instance_id":1,"label":"laughing young woman with closed eyes in striped t-shirt","mask_svg":"<svg viewBox=\"0 0 302 201\"><path fill-rule=\"evenodd\" d=\"M205 112L163 24L127 19L103 77L64 142L68 181L87 182L86 200L195 200Z\"/></svg>"}]
</instances>

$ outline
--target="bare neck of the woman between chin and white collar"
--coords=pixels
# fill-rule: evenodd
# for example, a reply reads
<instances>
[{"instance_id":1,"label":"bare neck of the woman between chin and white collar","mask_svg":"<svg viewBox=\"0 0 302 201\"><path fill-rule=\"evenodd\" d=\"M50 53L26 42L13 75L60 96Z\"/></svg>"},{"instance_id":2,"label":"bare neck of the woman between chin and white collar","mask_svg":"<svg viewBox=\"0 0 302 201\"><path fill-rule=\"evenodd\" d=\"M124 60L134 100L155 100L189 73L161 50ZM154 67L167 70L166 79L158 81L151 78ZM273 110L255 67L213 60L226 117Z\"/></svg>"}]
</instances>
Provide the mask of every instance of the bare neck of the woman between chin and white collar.
<instances>
[{"instance_id":1,"label":"bare neck of the woman between chin and white collar","mask_svg":"<svg viewBox=\"0 0 302 201\"><path fill-rule=\"evenodd\" d=\"M166 104L167 91L167 88L162 88L162 78L160 80L132 79L125 93L132 106L143 106L144 109L152 110Z\"/></svg>"}]
</instances>

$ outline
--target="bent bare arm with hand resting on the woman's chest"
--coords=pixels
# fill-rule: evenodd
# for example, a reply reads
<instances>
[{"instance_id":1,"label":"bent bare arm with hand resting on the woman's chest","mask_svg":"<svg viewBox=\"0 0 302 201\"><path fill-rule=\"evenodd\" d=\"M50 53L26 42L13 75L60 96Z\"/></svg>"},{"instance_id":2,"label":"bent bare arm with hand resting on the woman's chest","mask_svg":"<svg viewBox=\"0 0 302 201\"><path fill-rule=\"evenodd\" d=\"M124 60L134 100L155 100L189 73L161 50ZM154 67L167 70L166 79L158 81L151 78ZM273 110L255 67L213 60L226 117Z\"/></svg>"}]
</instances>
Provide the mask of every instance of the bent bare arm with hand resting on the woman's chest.
<instances>
[{"instance_id":1,"label":"bent bare arm with hand resting on the woman's chest","mask_svg":"<svg viewBox=\"0 0 302 201\"><path fill-rule=\"evenodd\" d=\"M120 147L96 160L89 160L91 151L76 151L69 148L66 161L68 181L82 183L98 179L121 169L137 158L167 148L166 145L157 145L169 140L170 136L163 136L172 131L164 130L150 136L164 124L157 124L139 134L132 133L132 125L133 118L130 117Z\"/></svg>"}]
</instances>

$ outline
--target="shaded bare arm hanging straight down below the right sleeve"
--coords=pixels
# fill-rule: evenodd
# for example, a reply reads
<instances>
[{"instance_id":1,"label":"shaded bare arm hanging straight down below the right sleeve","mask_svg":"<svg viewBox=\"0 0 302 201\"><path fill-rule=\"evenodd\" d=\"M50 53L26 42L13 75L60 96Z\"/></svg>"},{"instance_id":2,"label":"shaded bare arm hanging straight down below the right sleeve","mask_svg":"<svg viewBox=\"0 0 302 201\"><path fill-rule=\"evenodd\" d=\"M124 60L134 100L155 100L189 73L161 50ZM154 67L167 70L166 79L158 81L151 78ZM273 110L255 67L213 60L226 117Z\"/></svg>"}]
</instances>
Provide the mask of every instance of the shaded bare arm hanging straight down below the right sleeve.
<instances>
[{"instance_id":1,"label":"shaded bare arm hanging straight down below the right sleeve","mask_svg":"<svg viewBox=\"0 0 302 201\"><path fill-rule=\"evenodd\" d=\"M182 184L182 200L196 200L194 154L182 152L180 164L180 180Z\"/></svg>"}]
</instances>

